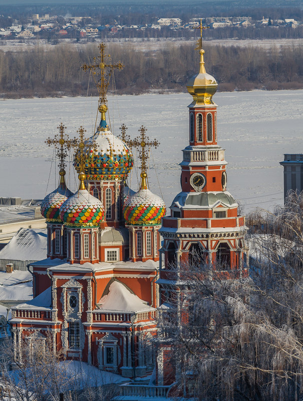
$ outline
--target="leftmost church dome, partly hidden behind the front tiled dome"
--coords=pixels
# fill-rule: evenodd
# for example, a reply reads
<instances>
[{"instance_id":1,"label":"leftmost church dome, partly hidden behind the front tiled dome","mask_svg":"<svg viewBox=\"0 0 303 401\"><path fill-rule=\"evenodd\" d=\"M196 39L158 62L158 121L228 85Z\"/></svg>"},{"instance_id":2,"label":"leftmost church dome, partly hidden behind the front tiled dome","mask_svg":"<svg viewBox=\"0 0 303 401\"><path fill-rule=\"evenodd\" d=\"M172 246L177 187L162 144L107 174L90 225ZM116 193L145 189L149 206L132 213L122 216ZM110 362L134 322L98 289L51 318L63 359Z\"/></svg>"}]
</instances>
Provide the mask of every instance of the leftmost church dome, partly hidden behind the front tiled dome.
<instances>
[{"instance_id":1,"label":"leftmost church dome, partly hidden behind the front tiled dome","mask_svg":"<svg viewBox=\"0 0 303 401\"><path fill-rule=\"evenodd\" d=\"M61 169L60 172L60 184L55 191L51 192L48 194L44 200L42 201L41 204L41 214L43 217L46 218L48 222L54 222L54 223L62 223L62 220L60 219L60 207L69 198L70 196L73 195L73 192L71 192L66 184L65 184L65 170Z\"/></svg>"}]
</instances>

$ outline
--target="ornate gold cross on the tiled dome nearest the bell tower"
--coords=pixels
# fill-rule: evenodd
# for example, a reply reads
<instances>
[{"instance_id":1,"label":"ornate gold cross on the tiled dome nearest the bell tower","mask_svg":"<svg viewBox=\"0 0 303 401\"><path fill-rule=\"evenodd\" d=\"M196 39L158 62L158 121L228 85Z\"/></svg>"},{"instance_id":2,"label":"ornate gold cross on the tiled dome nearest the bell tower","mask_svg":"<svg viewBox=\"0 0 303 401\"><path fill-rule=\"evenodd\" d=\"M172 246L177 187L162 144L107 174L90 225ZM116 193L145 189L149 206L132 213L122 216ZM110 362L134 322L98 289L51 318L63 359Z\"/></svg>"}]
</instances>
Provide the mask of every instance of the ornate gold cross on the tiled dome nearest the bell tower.
<instances>
[{"instance_id":1,"label":"ornate gold cross on the tiled dome nearest the bell tower","mask_svg":"<svg viewBox=\"0 0 303 401\"><path fill-rule=\"evenodd\" d=\"M147 129L142 125L138 130L141 135L134 140L126 141L125 143L130 147L139 148L139 159L141 160L141 186L140 189L148 189L147 185L147 173L146 173L146 160L148 159L148 149L154 146L155 149L160 145L156 139L149 142L149 138L145 136Z\"/></svg>"}]
</instances>

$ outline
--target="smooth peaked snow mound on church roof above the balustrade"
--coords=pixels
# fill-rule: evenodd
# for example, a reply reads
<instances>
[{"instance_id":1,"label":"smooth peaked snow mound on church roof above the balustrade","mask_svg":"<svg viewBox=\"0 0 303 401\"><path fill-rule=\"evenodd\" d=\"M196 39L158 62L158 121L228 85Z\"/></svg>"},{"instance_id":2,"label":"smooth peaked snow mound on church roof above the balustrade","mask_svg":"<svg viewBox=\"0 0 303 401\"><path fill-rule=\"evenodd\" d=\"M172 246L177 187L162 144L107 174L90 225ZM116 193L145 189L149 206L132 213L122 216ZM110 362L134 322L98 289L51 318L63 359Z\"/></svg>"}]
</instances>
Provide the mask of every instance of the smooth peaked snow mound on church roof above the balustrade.
<instances>
[{"instance_id":1,"label":"smooth peaked snow mound on church roof above the balustrade","mask_svg":"<svg viewBox=\"0 0 303 401\"><path fill-rule=\"evenodd\" d=\"M110 312L143 312L154 310L153 307L146 305L146 302L137 295L132 294L120 281L113 281L109 286L109 292L100 301L101 310Z\"/></svg>"}]
</instances>

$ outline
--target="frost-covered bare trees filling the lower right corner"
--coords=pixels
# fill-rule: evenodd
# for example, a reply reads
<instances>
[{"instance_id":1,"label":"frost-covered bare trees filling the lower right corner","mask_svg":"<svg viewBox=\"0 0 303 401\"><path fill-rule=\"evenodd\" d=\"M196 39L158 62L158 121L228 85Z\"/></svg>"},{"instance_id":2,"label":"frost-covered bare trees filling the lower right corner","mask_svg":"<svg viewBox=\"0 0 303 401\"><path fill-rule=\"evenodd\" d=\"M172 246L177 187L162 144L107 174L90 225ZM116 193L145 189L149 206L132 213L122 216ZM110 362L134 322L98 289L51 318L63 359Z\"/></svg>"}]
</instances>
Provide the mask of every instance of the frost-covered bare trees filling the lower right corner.
<instances>
[{"instance_id":1,"label":"frost-covered bare trees filling the lower right corner","mask_svg":"<svg viewBox=\"0 0 303 401\"><path fill-rule=\"evenodd\" d=\"M198 255L180 266L184 295L170 295L159 321L179 392L201 400L301 399L302 213L303 195L291 193L285 207L262 216L266 232L252 227L247 279L225 280Z\"/></svg>"}]
</instances>

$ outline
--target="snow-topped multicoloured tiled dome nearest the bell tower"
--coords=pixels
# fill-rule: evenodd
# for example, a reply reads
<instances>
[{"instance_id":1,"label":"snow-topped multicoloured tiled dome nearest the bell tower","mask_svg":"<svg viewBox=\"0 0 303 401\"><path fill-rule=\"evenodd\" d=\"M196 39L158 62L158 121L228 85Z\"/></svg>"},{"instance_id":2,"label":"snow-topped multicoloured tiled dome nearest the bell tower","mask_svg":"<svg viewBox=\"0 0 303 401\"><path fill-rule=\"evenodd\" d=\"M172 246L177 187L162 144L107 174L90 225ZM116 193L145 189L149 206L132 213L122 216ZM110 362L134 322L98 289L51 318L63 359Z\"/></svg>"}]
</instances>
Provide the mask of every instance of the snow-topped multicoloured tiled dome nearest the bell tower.
<instances>
[{"instance_id":1,"label":"snow-topped multicoloured tiled dome nearest the bell tower","mask_svg":"<svg viewBox=\"0 0 303 401\"><path fill-rule=\"evenodd\" d=\"M142 184L139 191L124 202L126 224L158 225L166 214L165 203L147 188L146 177L146 173L141 173Z\"/></svg>"}]
</instances>

